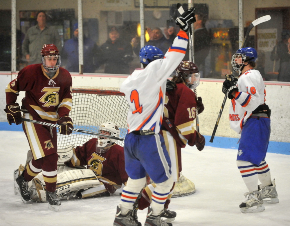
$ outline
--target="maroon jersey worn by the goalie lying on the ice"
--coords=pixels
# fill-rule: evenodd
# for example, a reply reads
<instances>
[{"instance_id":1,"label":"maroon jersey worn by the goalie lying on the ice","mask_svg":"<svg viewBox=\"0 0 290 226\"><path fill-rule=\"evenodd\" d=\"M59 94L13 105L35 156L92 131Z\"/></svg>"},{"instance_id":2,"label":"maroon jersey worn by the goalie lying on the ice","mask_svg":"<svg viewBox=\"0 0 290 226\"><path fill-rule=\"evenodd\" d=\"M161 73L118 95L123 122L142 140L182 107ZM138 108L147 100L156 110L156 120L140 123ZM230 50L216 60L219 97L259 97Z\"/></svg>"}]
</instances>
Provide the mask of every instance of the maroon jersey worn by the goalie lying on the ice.
<instances>
[{"instance_id":1,"label":"maroon jersey worn by the goalie lying on the ice","mask_svg":"<svg viewBox=\"0 0 290 226\"><path fill-rule=\"evenodd\" d=\"M70 167L87 166L87 169L91 169L100 181L120 188L122 183L125 184L128 180L125 171L124 148L113 144L107 152L100 153L96 148L97 142L98 139L93 138L83 146L73 149L72 159L65 164Z\"/></svg>"}]
</instances>

